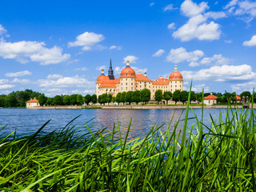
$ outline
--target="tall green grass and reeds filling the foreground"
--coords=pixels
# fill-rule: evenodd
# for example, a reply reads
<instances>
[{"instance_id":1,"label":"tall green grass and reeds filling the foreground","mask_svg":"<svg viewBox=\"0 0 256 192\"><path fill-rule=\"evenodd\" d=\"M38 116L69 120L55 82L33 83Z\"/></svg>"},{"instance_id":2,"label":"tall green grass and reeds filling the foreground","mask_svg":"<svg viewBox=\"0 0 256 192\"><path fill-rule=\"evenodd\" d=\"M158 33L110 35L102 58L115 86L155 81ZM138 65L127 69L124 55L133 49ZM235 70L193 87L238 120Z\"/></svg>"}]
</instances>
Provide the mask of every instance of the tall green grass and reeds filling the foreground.
<instances>
[{"instance_id":1,"label":"tall green grass and reeds filling the foreground","mask_svg":"<svg viewBox=\"0 0 256 192\"><path fill-rule=\"evenodd\" d=\"M187 108L183 130L154 126L134 141L130 126L121 138L118 125L112 133L0 132L0 191L255 191L254 111L228 109L210 126L195 118L186 127Z\"/></svg>"}]
</instances>

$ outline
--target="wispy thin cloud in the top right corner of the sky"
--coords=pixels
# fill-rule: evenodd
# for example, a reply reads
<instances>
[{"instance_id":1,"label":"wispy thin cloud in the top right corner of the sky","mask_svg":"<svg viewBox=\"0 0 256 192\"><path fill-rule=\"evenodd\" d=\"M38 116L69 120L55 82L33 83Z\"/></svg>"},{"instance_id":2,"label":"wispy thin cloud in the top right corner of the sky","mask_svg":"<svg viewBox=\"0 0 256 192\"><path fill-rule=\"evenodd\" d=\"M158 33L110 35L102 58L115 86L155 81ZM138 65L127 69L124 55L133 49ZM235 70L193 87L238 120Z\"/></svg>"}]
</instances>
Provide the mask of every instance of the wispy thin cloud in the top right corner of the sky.
<instances>
[{"instance_id":1,"label":"wispy thin cloud in the top right corner of the sky","mask_svg":"<svg viewBox=\"0 0 256 192\"><path fill-rule=\"evenodd\" d=\"M245 22L251 22L256 17L256 2L249 0L232 0L225 7L229 14L240 17Z\"/></svg>"}]
</instances>

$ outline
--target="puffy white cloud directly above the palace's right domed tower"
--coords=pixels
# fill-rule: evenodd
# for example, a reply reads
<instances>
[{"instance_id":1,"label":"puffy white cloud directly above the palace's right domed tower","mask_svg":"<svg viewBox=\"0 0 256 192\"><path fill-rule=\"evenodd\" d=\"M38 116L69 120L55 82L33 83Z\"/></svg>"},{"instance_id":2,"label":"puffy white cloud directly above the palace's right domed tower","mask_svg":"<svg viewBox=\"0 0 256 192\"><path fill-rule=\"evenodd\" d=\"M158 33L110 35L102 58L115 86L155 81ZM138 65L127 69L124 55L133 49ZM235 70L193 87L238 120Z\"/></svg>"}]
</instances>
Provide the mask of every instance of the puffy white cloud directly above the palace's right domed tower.
<instances>
[{"instance_id":1,"label":"puffy white cloud directly above the palace's right domed tower","mask_svg":"<svg viewBox=\"0 0 256 192\"><path fill-rule=\"evenodd\" d=\"M199 58L203 56L202 50L194 50L187 52L185 48L180 47L178 49L171 49L169 55L166 58L167 62L197 62Z\"/></svg>"}]
</instances>

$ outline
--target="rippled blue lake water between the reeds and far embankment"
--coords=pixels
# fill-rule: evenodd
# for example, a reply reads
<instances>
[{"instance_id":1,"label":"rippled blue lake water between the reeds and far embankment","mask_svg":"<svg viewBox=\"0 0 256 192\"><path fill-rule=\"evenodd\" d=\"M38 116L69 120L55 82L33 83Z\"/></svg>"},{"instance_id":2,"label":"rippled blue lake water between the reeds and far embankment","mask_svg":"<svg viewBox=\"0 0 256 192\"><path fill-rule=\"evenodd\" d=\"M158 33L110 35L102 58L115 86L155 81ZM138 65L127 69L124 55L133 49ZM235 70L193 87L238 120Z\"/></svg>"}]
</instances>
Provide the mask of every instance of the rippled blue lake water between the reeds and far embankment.
<instances>
[{"instance_id":1,"label":"rippled blue lake water between the reeds and far embankment","mask_svg":"<svg viewBox=\"0 0 256 192\"><path fill-rule=\"evenodd\" d=\"M18 134L34 133L46 121L51 119L50 123L44 128L44 131L54 130L66 126L70 120L81 115L77 118L73 125L83 126L86 122L88 126L94 126L94 130L107 127L107 130L112 130L114 123L119 122L122 136L126 134L127 127L132 120L130 127L129 138L138 138L146 136L150 128L154 125L162 126L162 130L166 130L170 123L170 129L173 129L174 123L185 116L185 110L100 110L100 109L82 109L82 110L26 110L26 109L0 109L0 125L7 125L7 132L17 129ZM218 113L226 110L220 109L205 109L204 122L209 125L210 114L218 118ZM194 109L198 118L201 118L202 110ZM190 117L194 114L190 110ZM189 126L194 123L194 119L189 120ZM182 129L182 123L178 126ZM86 127L82 129L86 130Z\"/></svg>"}]
</instances>

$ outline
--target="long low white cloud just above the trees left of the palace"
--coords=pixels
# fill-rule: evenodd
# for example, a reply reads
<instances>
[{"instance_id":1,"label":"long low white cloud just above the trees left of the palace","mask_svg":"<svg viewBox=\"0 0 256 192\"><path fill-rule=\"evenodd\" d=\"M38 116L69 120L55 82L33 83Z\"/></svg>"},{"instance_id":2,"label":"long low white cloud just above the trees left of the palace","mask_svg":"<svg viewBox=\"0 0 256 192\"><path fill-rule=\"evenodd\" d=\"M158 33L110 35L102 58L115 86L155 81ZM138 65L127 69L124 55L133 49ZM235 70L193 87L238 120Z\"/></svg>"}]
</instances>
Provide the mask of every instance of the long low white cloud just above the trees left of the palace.
<instances>
[{"instance_id":1,"label":"long low white cloud just above the trees left of the palace","mask_svg":"<svg viewBox=\"0 0 256 192\"><path fill-rule=\"evenodd\" d=\"M62 88L62 87L94 87L95 82L90 82L86 78L81 78L78 75L74 77L62 77L56 80L54 79L39 79L39 86L53 88Z\"/></svg>"}]
</instances>

